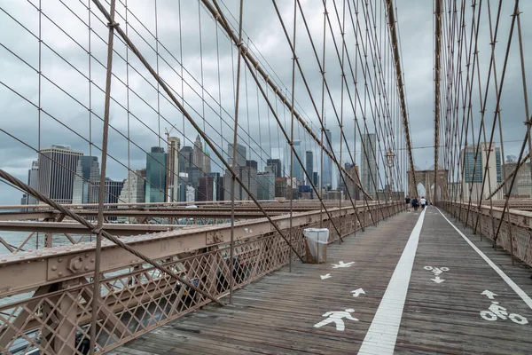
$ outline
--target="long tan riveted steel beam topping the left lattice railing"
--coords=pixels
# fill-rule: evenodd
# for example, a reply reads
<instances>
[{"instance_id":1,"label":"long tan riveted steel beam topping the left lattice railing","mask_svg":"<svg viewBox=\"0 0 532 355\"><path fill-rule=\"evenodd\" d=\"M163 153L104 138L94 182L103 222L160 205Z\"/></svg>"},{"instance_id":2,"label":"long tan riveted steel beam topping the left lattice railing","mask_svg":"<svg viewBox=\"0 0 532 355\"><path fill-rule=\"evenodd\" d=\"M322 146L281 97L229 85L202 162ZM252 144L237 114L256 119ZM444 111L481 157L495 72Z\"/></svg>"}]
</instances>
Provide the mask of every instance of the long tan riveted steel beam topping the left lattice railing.
<instances>
[{"instance_id":1,"label":"long tan riveted steel beam topping the left lattice railing","mask_svg":"<svg viewBox=\"0 0 532 355\"><path fill-rule=\"evenodd\" d=\"M394 202L394 204L398 203ZM386 206L381 208L386 208ZM370 212L376 209L378 207L374 206ZM368 211L366 210L366 212ZM352 207L342 208L341 211L338 208L331 209L333 218L340 217L340 213L342 216L355 218ZM290 218L279 216L272 217L272 219L279 229L287 230L289 228ZM301 228L304 225L319 223L319 219L319 210L294 213L292 224L293 227ZM235 241L239 241L276 233L276 228L270 224L268 219L260 218L236 222L234 231ZM158 260L200 248L227 244L230 241L230 235L230 224L224 224L131 236L122 241L143 255ZM80 243L0 256L0 280L2 280L0 297L38 288L51 282L90 275L94 271L95 245L94 242ZM101 272L142 262L137 256L111 241L102 242L101 253Z\"/></svg>"}]
</instances>

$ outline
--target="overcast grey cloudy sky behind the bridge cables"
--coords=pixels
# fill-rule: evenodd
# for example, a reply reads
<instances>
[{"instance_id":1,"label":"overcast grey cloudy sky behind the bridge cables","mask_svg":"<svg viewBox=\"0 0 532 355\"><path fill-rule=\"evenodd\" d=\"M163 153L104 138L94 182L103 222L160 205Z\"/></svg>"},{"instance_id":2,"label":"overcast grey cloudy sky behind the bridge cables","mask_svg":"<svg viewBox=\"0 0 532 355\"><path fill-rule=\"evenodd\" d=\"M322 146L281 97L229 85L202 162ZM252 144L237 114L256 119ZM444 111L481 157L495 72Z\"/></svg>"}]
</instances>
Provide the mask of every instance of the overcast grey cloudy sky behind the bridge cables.
<instances>
[{"instance_id":1,"label":"overcast grey cloudy sky behind the bridge cables","mask_svg":"<svg viewBox=\"0 0 532 355\"><path fill-rule=\"evenodd\" d=\"M52 144L71 146L83 154L100 156L106 80L106 20L88 0L63 3L56 0L43 2L40 16L36 0L0 0L0 169L22 180L27 179L27 169L36 159L36 151ZM296 68L293 96L297 111L318 136L318 117L322 110L325 112L326 126L332 131L332 146L339 159L339 126L342 122L347 139L347 145L344 141L341 146L342 162L350 162L350 155L355 157L356 162L361 159L360 137L354 120L356 117L361 130L373 132L374 122L377 123L379 135L384 132L379 147L382 150L388 146L394 147L399 158L398 166L404 171L404 135L400 125L385 9L379 2L372 3L377 4L366 7L365 2L358 0L327 2L330 24L326 23L325 31L325 79L329 91L325 91L322 106L323 81L314 48L323 64L323 4L317 0L301 1L310 35L298 11L296 52L304 78L309 84L310 95L303 76ZM434 163L432 3L429 0L395 1L411 138L415 148L414 162L420 169L428 169ZM470 2L465 3L468 9L465 13L465 37L469 40L471 10ZM513 11L512 1L504 3L496 45L499 82ZM520 11L524 13L521 17L526 18L532 6L529 2L521 3ZM108 8L107 3L103 4ZM125 11L126 4L128 12ZM218 4L231 26L237 30L239 2L219 0ZM293 2L278 0L276 4L282 23L292 38ZM344 4L344 71L347 84L342 91L339 56ZM492 21L495 22L496 4L492 4L492 7ZM244 43L286 98L292 99L293 55L274 3L265 0L245 1L243 13ZM215 150L224 152L233 135L238 57L235 46L223 28L215 25L207 7L192 0L121 0L117 1L117 22L127 31L145 59L158 70L176 98L184 102L186 111L199 123L201 130L205 130ZM528 34L532 33L528 22L522 21L520 24L525 58L532 55L527 41ZM370 32L366 32L368 27ZM40 47L39 33L43 40ZM489 43L488 10L484 8L478 41L482 98L489 68ZM377 44L381 57L379 62L372 59ZM364 51L367 51L367 59ZM366 62L368 72L364 81ZM376 77L374 64L382 67L381 76ZM526 61L525 68L527 74L532 73L530 60ZM42 75L38 74L39 71ZM526 115L520 75L518 38L514 36L501 99L506 155L519 154L520 141L524 137L522 122ZM490 78L493 81L493 75ZM381 90L378 86L383 80L386 82L384 91L374 99L373 92ZM261 84L266 88L262 79ZM528 87L529 84L528 81ZM258 161L260 167L270 156L284 159L287 156L285 138L244 62L240 85L239 143L247 146L248 159ZM490 85L485 118L488 132L496 104L493 82ZM446 87L442 84L444 90ZM478 82L474 83L473 92L473 122L478 132L481 98L477 93ZM267 96L282 125L290 133L290 111L276 99L271 89L267 90ZM114 41L112 98L108 177L121 180L127 176L128 169L144 168L146 152L149 152L150 147L166 146L165 130L171 130L171 135L180 138L182 146L192 146L197 131L118 37ZM385 113L389 115L385 114L386 118L381 116L382 107L387 107ZM390 115L391 119L388 118ZM364 128L364 117L367 128ZM390 131L392 133L388 135ZM495 140L498 141L498 126L496 133ZM293 136L301 140L303 150L318 151L317 144L299 122L293 126ZM382 154L378 152L381 166ZM213 170L221 171L223 164L212 150L211 156ZM318 166L318 158L316 154L315 167ZM287 169L288 162L285 164ZM338 180L338 174L334 180ZM18 204L20 196L19 191L0 182L0 204Z\"/></svg>"}]
</instances>

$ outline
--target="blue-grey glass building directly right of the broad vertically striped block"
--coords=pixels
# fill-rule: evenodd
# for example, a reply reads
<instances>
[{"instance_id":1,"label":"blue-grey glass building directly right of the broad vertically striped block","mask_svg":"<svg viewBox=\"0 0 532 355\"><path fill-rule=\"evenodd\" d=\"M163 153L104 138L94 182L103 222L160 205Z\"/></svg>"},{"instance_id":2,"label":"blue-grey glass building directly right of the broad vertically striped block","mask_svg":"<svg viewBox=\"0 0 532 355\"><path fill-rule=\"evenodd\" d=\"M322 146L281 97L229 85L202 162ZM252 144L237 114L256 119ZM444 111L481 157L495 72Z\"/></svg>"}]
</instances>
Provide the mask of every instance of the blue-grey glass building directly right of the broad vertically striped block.
<instances>
[{"instance_id":1,"label":"blue-grey glass building directly right of the broad vertically striped block","mask_svg":"<svg viewBox=\"0 0 532 355\"><path fill-rule=\"evenodd\" d=\"M74 176L74 193L72 196L72 203L82 204L91 203L90 201L98 201L91 195L91 185L98 182L100 178L98 157L96 156L80 156Z\"/></svg>"}]
</instances>

